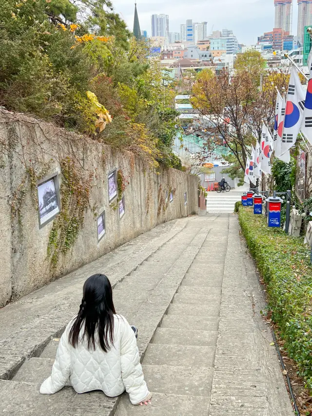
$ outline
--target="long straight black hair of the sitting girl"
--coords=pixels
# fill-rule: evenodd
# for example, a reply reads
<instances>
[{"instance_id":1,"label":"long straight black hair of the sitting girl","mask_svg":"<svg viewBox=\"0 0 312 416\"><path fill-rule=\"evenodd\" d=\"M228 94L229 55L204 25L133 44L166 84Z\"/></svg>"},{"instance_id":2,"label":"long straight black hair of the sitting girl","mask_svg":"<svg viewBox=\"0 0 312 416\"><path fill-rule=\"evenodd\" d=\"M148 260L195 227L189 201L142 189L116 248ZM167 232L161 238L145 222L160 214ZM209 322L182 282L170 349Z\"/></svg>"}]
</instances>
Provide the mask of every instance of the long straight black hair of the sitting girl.
<instances>
[{"instance_id":1,"label":"long straight black hair of the sitting girl","mask_svg":"<svg viewBox=\"0 0 312 416\"><path fill-rule=\"evenodd\" d=\"M113 291L108 278L105 275L89 277L84 282L79 312L69 332L70 344L76 348L86 337L88 349L95 350L97 331L100 347L106 353L110 349L109 342L114 345L114 314ZM79 338L83 324L84 331Z\"/></svg>"}]
</instances>

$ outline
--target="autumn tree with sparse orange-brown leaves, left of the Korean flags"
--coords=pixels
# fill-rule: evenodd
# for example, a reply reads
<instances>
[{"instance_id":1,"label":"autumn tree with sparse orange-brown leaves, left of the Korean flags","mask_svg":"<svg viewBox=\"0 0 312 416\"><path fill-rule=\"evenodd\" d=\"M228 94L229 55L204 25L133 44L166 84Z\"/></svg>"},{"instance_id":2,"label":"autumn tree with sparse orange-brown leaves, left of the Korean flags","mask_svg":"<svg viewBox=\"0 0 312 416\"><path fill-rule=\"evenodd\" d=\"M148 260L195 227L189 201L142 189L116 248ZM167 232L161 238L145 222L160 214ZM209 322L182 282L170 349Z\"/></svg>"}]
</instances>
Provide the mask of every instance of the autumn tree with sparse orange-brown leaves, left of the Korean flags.
<instances>
[{"instance_id":1,"label":"autumn tree with sparse orange-brown leaves, left of the Korean flags","mask_svg":"<svg viewBox=\"0 0 312 416\"><path fill-rule=\"evenodd\" d=\"M223 69L218 74L199 76L192 98L196 108L208 119L209 138L203 148L203 160L217 146L226 145L231 154L225 160L232 164L227 173L239 178L243 177L251 144L255 145L254 136L261 138L262 121L273 127L275 86L281 89L287 82L287 74L263 72L258 53L246 54L241 54L234 74Z\"/></svg>"}]
</instances>

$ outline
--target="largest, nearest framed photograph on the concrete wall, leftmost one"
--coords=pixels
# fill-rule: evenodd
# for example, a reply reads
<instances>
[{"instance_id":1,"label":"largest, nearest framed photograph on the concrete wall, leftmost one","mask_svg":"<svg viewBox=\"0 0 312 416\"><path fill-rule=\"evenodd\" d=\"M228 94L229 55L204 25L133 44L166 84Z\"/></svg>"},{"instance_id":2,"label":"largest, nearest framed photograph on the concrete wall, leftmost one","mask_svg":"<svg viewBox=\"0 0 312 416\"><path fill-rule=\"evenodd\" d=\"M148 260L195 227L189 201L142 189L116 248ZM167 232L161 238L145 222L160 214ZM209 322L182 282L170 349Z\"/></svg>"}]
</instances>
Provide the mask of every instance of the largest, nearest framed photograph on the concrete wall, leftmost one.
<instances>
[{"instance_id":1,"label":"largest, nearest framed photograph on the concrete wall, leftmost one","mask_svg":"<svg viewBox=\"0 0 312 416\"><path fill-rule=\"evenodd\" d=\"M59 174L49 175L37 182L39 228L52 221L60 211Z\"/></svg>"}]
</instances>

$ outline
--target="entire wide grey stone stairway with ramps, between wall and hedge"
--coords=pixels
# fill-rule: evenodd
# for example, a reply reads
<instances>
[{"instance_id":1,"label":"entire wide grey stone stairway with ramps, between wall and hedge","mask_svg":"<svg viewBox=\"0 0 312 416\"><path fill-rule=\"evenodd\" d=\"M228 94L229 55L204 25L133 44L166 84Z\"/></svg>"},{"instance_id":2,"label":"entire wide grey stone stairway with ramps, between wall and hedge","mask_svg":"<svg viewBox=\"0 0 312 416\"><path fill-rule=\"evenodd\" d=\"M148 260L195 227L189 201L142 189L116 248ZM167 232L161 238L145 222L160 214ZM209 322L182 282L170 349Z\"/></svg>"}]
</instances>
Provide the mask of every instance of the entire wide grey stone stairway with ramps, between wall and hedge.
<instances>
[{"instance_id":1,"label":"entire wide grey stone stairway with ramps, between wall and hedge","mask_svg":"<svg viewBox=\"0 0 312 416\"><path fill-rule=\"evenodd\" d=\"M139 327L152 405L127 395L39 395L86 277L106 273L119 313ZM14 416L291 416L254 266L234 215L156 227L0 310L0 412ZM3 323L5 324L3 325ZM52 339L51 339L52 338Z\"/></svg>"}]
</instances>

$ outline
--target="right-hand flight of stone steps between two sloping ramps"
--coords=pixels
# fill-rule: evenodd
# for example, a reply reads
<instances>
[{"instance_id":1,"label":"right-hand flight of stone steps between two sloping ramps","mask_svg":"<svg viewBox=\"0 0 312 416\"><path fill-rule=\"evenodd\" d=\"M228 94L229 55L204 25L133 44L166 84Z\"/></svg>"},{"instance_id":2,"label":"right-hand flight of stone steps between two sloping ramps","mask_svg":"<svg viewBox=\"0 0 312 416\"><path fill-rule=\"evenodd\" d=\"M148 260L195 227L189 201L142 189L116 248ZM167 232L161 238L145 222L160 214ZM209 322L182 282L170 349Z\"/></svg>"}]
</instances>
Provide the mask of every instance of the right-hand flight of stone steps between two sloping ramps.
<instances>
[{"instance_id":1,"label":"right-hand flight of stone steps between two sloping ramps","mask_svg":"<svg viewBox=\"0 0 312 416\"><path fill-rule=\"evenodd\" d=\"M144 414L209 415L228 218L217 224L222 231L209 233L147 347L142 364L153 398ZM218 258L208 258L215 249ZM122 397L116 416L135 415L137 409Z\"/></svg>"}]
</instances>

